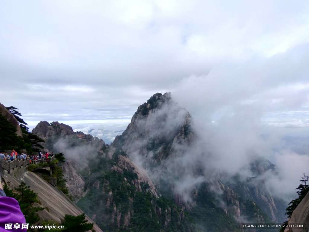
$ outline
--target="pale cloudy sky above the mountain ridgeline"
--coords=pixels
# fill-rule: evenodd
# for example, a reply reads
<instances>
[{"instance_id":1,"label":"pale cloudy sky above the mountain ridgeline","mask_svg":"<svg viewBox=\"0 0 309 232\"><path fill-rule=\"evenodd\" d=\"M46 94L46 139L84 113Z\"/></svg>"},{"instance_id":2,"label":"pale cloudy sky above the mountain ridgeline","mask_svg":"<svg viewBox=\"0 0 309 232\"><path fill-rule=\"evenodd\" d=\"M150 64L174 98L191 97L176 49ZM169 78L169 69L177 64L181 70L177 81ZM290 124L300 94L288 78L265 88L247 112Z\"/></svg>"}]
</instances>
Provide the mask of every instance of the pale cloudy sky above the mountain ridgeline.
<instances>
[{"instance_id":1,"label":"pale cloudy sky above the mountain ridgeline","mask_svg":"<svg viewBox=\"0 0 309 232\"><path fill-rule=\"evenodd\" d=\"M59 121L111 142L138 105L170 91L197 123L235 115L306 138L308 7L4 1L0 102L19 108L30 129Z\"/></svg>"}]
</instances>

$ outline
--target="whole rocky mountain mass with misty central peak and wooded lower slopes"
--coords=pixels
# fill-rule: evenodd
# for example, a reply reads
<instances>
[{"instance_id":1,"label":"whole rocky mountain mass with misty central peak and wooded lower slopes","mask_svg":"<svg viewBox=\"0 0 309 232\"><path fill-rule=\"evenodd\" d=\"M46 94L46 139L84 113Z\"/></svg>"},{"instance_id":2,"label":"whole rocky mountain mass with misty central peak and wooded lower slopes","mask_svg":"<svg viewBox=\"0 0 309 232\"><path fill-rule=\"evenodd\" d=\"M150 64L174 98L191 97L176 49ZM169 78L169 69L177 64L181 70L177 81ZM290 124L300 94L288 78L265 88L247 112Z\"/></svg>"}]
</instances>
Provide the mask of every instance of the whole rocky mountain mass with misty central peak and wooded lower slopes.
<instances>
[{"instance_id":1,"label":"whole rocky mountain mass with misty central peak and wooded lower slopes","mask_svg":"<svg viewBox=\"0 0 309 232\"><path fill-rule=\"evenodd\" d=\"M256 178L275 171L268 160L252 160L254 176L245 179L188 168L183 158L195 155L198 136L171 93L140 105L111 145L58 122L40 122L32 133L65 153L70 194L103 231L242 231L244 221L284 220L285 204Z\"/></svg>"}]
</instances>

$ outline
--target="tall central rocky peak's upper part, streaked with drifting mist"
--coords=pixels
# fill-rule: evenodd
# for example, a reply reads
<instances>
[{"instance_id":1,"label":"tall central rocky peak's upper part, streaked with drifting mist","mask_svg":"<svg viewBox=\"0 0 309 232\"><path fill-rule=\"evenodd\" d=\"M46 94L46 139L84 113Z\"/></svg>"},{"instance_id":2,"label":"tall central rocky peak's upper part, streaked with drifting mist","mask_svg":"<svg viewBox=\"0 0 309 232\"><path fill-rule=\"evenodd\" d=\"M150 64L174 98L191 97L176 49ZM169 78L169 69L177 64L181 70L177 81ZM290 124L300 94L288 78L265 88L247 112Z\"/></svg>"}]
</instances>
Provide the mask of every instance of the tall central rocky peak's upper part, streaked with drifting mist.
<instances>
[{"instance_id":1,"label":"tall central rocky peak's upper part, streaked with drifting mist","mask_svg":"<svg viewBox=\"0 0 309 232\"><path fill-rule=\"evenodd\" d=\"M177 148L194 140L191 123L189 112L172 101L171 93L156 93L138 107L113 145L121 147L133 160L141 154L146 167L159 164L176 153L180 155Z\"/></svg>"}]
</instances>

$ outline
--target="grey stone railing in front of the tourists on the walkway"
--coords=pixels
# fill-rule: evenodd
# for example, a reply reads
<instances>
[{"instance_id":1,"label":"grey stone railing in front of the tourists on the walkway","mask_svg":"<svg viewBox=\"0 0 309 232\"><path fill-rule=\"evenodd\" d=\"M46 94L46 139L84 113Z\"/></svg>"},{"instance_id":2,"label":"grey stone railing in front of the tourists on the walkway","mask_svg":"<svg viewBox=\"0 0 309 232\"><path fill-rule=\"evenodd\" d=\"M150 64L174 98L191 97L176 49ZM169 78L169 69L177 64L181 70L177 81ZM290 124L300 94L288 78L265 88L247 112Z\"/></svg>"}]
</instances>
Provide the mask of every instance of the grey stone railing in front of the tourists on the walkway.
<instances>
[{"instance_id":1,"label":"grey stone railing in front of the tourists on the walkway","mask_svg":"<svg viewBox=\"0 0 309 232\"><path fill-rule=\"evenodd\" d=\"M21 168L21 167L26 167L29 164L39 164L39 163L44 163L44 162L50 162L53 161L53 159L55 158L55 155L53 155L52 157L46 159L46 158L42 158L39 160L13 160L13 161L6 161L6 160L0 160L0 169L4 169L7 171L7 173L11 173L12 170L14 170L15 168ZM2 173L3 170L1 170Z\"/></svg>"}]
</instances>

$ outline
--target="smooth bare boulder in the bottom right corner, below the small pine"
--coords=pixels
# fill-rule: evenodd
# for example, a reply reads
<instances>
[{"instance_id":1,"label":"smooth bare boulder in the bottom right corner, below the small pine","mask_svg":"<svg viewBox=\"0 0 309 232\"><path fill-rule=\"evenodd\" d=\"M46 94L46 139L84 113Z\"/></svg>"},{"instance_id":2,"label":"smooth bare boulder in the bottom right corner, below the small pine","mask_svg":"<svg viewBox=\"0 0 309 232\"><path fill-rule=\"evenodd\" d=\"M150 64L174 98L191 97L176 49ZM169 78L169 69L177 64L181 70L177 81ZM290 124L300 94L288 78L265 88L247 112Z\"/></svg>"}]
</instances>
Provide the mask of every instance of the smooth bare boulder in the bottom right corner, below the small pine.
<instances>
[{"instance_id":1,"label":"smooth bare boulder in the bottom right corner, below the small pine","mask_svg":"<svg viewBox=\"0 0 309 232\"><path fill-rule=\"evenodd\" d=\"M309 231L309 192L304 199L294 209L289 221L289 225L303 225L302 228L290 228L290 232Z\"/></svg>"}]
</instances>

